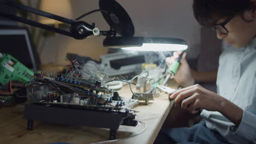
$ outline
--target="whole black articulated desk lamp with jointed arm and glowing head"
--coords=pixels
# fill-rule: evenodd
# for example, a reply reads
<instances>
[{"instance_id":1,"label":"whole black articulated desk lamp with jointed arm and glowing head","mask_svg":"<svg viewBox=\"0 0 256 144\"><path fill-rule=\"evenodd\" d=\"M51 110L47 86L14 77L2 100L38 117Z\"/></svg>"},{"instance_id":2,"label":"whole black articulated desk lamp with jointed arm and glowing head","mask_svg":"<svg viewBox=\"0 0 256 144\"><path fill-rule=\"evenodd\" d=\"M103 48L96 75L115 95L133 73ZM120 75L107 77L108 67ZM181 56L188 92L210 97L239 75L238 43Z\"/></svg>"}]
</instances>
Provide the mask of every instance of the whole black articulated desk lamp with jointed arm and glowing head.
<instances>
[{"instance_id":1,"label":"whole black articulated desk lamp with jointed arm and glowing head","mask_svg":"<svg viewBox=\"0 0 256 144\"><path fill-rule=\"evenodd\" d=\"M67 19L58 15L47 13L42 10L27 7L26 5L21 5L8 0L0 0L0 4L7 5L16 9L21 9L28 11L33 14L48 17L56 21L67 23L70 26L70 31L65 31L60 28L55 28L52 26L45 25L40 22L25 19L24 17L19 17L16 15L11 15L8 13L0 13L0 16L6 17L8 19L26 23L31 26L39 27L52 31L55 33L67 35L68 37L73 37L75 39L85 39L91 35L104 35L106 39L103 41L103 46L109 48L122 48L126 50L138 50L138 51L177 51L187 49L186 41L176 38L147 38L147 37L133 37L135 29L133 27L130 16L126 13L123 7L114 0L100 0L100 9L92 10L75 20ZM96 11L101 11L104 19L110 26L109 31L100 31L95 24L86 23L84 21L79 21L86 15L95 13ZM120 37L117 37L117 33Z\"/></svg>"}]
</instances>

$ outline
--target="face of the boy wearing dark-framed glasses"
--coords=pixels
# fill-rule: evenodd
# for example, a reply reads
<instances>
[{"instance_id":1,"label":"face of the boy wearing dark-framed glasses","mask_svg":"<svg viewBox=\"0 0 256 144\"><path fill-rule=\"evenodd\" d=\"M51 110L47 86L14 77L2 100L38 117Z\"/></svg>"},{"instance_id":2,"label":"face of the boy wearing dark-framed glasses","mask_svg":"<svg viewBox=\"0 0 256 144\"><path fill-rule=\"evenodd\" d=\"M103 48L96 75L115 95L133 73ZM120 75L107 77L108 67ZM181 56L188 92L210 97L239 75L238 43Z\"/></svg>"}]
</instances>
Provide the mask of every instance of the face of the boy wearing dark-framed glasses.
<instances>
[{"instance_id":1,"label":"face of the boy wearing dark-framed glasses","mask_svg":"<svg viewBox=\"0 0 256 144\"><path fill-rule=\"evenodd\" d=\"M254 13L252 12L251 14L246 15L246 18L252 20L252 22L246 22L240 15L232 18L225 25L225 28L228 29L229 33L224 34L217 31L218 39L223 39L228 45L237 48L246 46L256 36L256 13ZM225 19L220 19L217 24L222 23L223 21L225 21Z\"/></svg>"}]
</instances>

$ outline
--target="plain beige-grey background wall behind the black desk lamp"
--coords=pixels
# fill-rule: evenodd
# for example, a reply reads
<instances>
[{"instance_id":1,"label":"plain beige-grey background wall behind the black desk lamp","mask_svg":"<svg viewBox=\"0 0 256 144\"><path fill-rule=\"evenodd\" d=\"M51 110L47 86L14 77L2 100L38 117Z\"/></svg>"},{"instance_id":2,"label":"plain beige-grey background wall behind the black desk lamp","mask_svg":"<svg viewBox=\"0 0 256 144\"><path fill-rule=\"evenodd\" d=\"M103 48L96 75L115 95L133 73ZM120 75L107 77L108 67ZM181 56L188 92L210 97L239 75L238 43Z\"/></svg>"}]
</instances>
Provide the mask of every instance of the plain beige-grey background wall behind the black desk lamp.
<instances>
[{"instance_id":1,"label":"plain beige-grey background wall behind the black desk lamp","mask_svg":"<svg viewBox=\"0 0 256 144\"><path fill-rule=\"evenodd\" d=\"M107 1L107 0L106 0ZM98 9L98 0L75 0L72 2L75 19L90 10ZM176 37L188 41L188 57L194 58L200 50L200 26L194 19L192 2L181 0L117 0L130 15L136 36ZM59 5L56 5L58 7ZM109 30L100 13L82 19L95 22L101 30ZM108 49L102 46L104 37L75 40L63 35L55 35L46 40L42 52L42 63L65 64L67 52L78 53L99 60Z\"/></svg>"}]
</instances>

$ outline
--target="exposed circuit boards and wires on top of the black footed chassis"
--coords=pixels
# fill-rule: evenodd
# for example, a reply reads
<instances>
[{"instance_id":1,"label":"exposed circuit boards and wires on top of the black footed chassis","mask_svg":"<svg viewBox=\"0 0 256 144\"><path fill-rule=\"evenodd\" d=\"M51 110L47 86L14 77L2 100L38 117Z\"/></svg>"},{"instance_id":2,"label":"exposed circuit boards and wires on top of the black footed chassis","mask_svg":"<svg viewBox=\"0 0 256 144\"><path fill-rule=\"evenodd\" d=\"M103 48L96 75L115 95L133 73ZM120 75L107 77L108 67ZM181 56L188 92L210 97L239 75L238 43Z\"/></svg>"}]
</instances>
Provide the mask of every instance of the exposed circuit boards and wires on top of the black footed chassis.
<instances>
[{"instance_id":1,"label":"exposed circuit boards and wires on top of the black footed chassis","mask_svg":"<svg viewBox=\"0 0 256 144\"><path fill-rule=\"evenodd\" d=\"M119 97L112 89L101 87L94 80L58 75L46 77L35 74L36 79L27 87L30 103L45 105L74 105L98 110L121 110L138 104L136 99Z\"/></svg>"}]
</instances>

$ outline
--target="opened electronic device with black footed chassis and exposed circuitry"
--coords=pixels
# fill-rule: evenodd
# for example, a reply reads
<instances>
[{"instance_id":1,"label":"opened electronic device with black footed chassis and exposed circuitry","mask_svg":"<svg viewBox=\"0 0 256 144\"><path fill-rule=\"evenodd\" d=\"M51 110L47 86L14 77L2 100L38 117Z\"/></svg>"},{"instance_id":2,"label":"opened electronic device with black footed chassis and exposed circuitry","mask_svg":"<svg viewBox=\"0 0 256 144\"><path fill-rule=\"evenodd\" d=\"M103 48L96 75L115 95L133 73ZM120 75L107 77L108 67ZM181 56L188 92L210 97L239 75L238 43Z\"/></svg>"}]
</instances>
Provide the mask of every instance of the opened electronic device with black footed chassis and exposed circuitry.
<instances>
[{"instance_id":1,"label":"opened electronic device with black footed chassis and exposed circuitry","mask_svg":"<svg viewBox=\"0 0 256 144\"><path fill-rule=\"evenodd\" d=\"M109 139L116 139L120 124L137 125L130 109L138 104L137 99L123 99L94 80L65 75L45 77L41 71L34 76L36 79L27 86L29 104L25 106L29 130L33 129L34 120L57 122L109 128Z\"/></svg>"}]
</instances>

